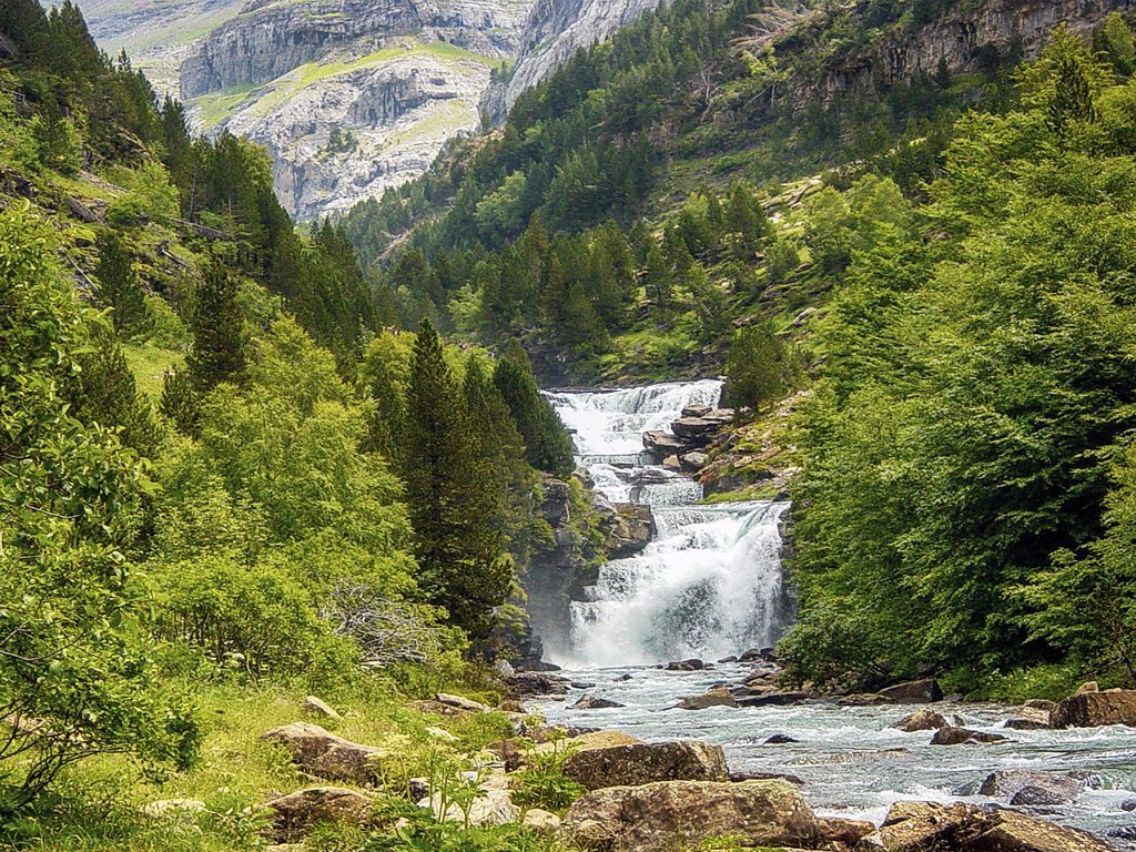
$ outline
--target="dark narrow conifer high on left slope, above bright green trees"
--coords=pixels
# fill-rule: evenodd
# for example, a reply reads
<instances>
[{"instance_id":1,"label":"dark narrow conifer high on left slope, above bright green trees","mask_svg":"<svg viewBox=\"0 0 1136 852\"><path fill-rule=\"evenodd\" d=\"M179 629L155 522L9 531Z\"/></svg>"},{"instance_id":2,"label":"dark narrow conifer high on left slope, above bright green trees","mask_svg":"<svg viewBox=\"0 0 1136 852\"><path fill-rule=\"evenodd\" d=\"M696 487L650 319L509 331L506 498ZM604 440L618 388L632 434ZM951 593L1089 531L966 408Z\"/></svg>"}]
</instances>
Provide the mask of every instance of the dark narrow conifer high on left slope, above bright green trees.
<instances>
[{"instance_id":1,"label":"dark narrow conifer high on left slope, above bright green trees","mask_svg":"<svg viewBox=\"0 0 1136 852\"><path fill-rule=\"evenodd\" d=\"M222 382L244 377L244 314L236 301L236 279L217 259L206 267L193 311L193 349L185 364L193 387L208 393Z\"/></svg>"}]
</instances>

